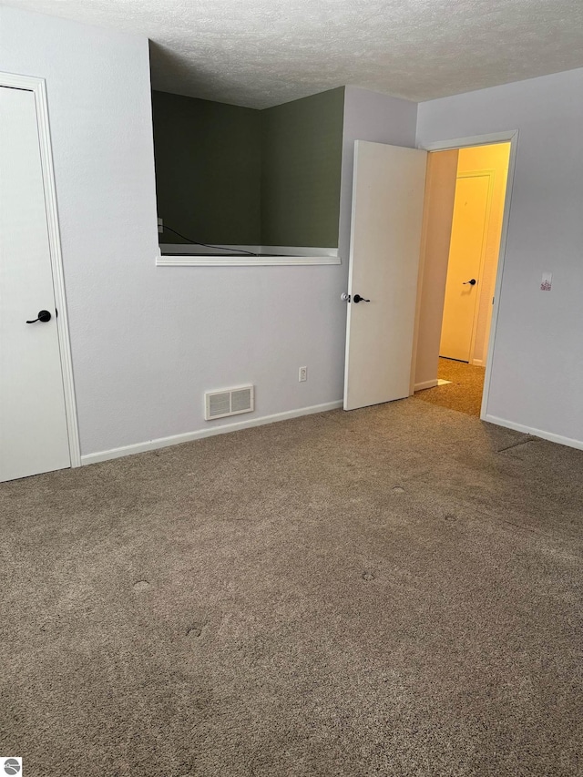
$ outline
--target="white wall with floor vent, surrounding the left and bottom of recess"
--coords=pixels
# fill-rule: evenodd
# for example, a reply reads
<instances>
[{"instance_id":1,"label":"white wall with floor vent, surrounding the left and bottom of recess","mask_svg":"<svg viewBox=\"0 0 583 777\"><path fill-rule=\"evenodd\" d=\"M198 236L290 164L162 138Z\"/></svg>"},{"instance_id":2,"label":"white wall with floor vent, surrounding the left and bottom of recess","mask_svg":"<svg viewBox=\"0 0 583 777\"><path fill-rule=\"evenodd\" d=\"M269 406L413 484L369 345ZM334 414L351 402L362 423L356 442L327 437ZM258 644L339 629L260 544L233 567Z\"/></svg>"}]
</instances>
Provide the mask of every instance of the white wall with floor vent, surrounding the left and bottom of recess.
<instances>
[{"instance_id":1,"label":"white wall with floor vent, surrounding the left and bottom of recess","mask_svg":"<svg viewBox=\"0 0 583 777\"><path fill-rule=\"evenodd\" d=\"M156 267L148 41L0 8L0 70L46 78L83 455L340 400L345 266ZM298 367L307 365L307 383Z\"/></svg>"}]
</instances>

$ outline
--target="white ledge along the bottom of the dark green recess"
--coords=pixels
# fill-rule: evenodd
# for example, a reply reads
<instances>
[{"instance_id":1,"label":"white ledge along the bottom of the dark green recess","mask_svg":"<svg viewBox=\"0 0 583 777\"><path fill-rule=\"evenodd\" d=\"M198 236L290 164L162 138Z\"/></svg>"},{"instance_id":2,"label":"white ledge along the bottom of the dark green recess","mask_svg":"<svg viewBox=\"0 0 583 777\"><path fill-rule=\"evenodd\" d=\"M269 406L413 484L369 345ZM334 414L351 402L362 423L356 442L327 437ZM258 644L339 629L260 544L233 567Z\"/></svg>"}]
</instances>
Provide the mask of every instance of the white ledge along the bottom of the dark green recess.
<instances>
[{"instance_id":1,"label":"white ledge along the bottom of the dark green recess","mask_svg":"<svg viewBox=\"0 0 583 777\"><path fill-rule=\"evenodd\" d=\"M281 267L288 265L342 264L338 249L290 246L220 246L197 253L192 245L163 245L156 257L158 267ZM169 253L180 250L180 254ZM230 256L220 250L251 251L263 256ZM167 252L168 251L168 252ZM273 255L271 255L273 254Z\"/></svg>"}]
</instances>

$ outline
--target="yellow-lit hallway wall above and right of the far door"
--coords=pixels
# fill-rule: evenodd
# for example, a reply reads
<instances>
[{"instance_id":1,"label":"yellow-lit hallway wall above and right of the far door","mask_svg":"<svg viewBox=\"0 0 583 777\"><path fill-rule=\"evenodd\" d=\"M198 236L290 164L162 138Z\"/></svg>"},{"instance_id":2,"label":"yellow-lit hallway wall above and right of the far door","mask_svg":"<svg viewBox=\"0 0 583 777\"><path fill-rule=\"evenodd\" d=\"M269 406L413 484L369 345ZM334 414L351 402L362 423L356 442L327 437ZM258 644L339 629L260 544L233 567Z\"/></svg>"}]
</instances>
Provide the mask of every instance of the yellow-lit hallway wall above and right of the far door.
<instances>
[{"instance_id":1,"label":"yellow-lit hallway wall above and right of the far door","mask_svg":"<svg viewBox=\"0 0 583 777\"><path fill-rule=\"evenodd\" d=\"M474 172L476 170L494 170L492 199L486 225L484 265L479 279L480 288L478 290L479 299L477 302L473 363L478 366L486 366L488 333L493 308L492 300L496 288L496 269L498 266L500 237L502 235L502 221L504 219L509 156L509 143L461 148L457 164L458 174Z\"/></svg>"}]
</instances>

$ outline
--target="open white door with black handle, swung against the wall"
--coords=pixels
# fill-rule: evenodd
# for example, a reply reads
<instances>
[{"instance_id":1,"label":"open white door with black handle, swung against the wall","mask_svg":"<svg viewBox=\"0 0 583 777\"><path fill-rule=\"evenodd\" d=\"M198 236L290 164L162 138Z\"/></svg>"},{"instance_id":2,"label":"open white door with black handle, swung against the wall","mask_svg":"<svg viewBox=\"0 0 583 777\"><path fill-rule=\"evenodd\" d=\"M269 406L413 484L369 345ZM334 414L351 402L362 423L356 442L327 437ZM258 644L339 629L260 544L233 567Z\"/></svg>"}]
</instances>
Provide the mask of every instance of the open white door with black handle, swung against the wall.
<instances>
[{"instance_id":1,"label":"open white door with black handle, swung against the wall","mask_svg":"<svg viewBox=\"0 0 583 777\"><path fill-rule=\"evenodd\" d=\"M344 410L410 392L426 163L417 148L355 143Z\"/></svg>"}]
</instances>

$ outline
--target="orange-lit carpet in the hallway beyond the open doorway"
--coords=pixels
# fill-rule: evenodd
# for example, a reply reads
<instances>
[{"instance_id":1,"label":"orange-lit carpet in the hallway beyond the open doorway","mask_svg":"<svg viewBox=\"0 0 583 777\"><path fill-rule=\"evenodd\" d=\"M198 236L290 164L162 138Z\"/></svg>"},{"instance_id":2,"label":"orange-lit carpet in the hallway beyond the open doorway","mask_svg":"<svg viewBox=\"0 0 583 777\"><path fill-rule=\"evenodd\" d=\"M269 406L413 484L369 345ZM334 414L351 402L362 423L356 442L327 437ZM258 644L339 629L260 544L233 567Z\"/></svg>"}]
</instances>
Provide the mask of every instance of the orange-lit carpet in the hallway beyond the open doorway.
<instances>
[{"instance_id":1,"label":"orange-lit carpet in the hallway beyond the open doorway","mask_svg":"<svg viewBox=\"0 0 583 777\"><path fill-rule=\"evenodd\" d=\"M479 418L485 373L485 367L440 358L437 377L451 383L416 392L415 397Z\"/></svg>"}]
</instances>

